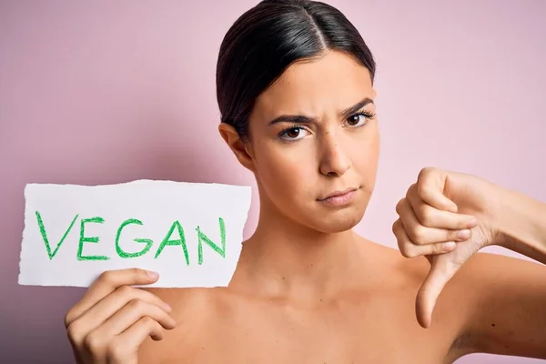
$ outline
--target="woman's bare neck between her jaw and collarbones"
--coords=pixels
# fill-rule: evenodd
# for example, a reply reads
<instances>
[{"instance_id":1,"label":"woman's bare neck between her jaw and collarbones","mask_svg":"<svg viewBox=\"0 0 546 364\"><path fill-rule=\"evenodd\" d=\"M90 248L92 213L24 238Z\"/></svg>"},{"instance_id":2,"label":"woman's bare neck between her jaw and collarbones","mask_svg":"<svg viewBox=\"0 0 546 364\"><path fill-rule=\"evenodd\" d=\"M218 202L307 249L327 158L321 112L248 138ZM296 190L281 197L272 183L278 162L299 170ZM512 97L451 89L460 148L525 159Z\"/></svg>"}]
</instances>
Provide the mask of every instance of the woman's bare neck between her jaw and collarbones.
<instances>
[{"instance_id":1,"label":"woman's bare neck between her jaw and collarbones","mask_svg":"<svg viewBox=\"0 0 546 364\"><path fill-rule=\"evenodd\" d=\"M262 212L256 232L243 243L230 286L312 305L354 281L363 264L361 243L352 230L322 233Z\"/></svg>"}]
</instances>

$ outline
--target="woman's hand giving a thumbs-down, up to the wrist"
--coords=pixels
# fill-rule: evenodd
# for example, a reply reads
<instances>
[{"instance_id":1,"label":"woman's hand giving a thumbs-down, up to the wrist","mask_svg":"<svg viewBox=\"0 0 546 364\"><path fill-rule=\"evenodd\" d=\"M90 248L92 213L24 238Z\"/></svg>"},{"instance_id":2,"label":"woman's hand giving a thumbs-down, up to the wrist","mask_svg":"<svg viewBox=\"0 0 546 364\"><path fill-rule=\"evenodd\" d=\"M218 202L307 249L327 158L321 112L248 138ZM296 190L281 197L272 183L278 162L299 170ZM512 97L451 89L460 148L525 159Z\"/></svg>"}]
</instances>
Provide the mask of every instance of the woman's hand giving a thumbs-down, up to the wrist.
<instances>
[{"instance_id":1,"label":"woman's hand giving a thumbs-down, up to the wrist","mask_svg":"<svg viewBox=\"0 0 546 364\"><path fill-rule=\"evenodd\" d=\"M430 261L416 300L423 328L430 326L436 300L450 278L480 248L499 243L493 218L498 198L497 187L479 177L429 167L399 201L392 231L401 254Z\"/></svg>"}]
</instances>

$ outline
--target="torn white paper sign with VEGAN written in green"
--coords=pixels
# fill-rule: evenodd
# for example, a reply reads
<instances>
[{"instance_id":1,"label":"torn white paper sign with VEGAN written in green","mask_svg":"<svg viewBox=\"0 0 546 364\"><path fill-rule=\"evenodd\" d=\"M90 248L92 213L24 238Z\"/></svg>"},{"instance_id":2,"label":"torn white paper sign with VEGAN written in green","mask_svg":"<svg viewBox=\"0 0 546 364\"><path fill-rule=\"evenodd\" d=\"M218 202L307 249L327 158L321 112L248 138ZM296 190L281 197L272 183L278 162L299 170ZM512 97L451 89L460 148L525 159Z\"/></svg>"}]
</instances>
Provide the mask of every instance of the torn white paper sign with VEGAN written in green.
<instances>
[{"instance_id":1,"label":"torn white paper sign with VEGAN written in green","mask_svg":"<svg viewBox=\"0 0 546 364\"><path fill-rule=\"evenodd\" d=\"M88 287L144 268L160 275L148 287L225 287L250 199L250 187L219 184L28 184L19 284Z\"/></svg>"}]
</instances>

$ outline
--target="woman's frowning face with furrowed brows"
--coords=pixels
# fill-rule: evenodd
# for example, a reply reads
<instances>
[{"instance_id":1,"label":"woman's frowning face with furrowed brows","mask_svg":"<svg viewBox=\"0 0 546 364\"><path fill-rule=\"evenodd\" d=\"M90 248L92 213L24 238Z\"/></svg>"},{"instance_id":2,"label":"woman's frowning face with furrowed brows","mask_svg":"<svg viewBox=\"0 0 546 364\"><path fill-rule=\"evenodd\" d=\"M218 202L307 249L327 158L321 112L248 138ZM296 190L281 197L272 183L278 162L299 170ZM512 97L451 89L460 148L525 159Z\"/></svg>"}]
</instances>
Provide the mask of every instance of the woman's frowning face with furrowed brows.
<instances>
[{"instance_id":1,"label":"woman's frowning face with furrowed brows","mask_svg":"<svg viewBox=\"0 0 546 364\"><path fill-rule=\"evenodd\" d=\"M339 52L289 66L258 97L243 164L262 214L329 233L359 223L379 158L374 97L369 71Z\"/></svg>"}]
</instances>

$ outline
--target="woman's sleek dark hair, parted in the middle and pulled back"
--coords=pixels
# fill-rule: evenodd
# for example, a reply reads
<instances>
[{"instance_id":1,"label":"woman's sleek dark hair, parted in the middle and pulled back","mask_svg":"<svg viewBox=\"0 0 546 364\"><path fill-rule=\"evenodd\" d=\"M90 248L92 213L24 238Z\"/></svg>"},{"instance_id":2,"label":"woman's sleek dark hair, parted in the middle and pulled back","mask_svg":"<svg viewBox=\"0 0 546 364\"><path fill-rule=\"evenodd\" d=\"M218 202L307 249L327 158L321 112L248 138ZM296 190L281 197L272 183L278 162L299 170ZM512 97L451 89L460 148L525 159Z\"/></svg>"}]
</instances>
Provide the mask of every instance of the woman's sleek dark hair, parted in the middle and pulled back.
<instances>
[{"instance_id":1,"label":"woman's sleek dark hair, parted in the middle and pulled back","mask_svg":"<svg viewBox=\"0 0 546 364\"><path fill-rule=\"evenodd\" d=\"M353 56L375 74L368 45L331 5L310 0L263 0L227 31L217 60L217 102L222 123L248 138L248 116L256 98L294 62L328 51Z\"/></svg>"}]
</instances>

